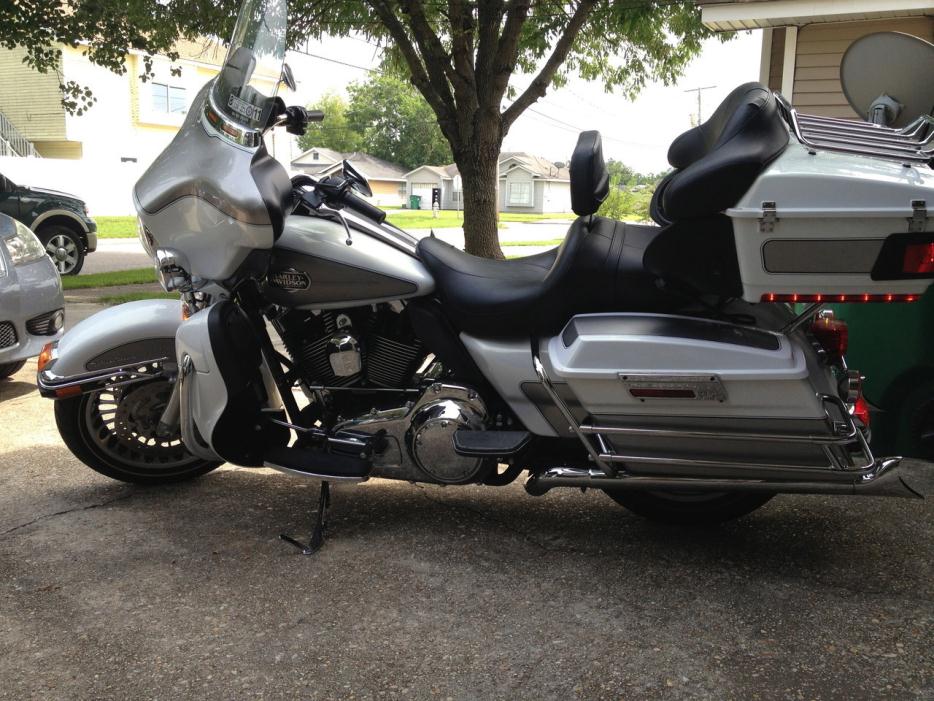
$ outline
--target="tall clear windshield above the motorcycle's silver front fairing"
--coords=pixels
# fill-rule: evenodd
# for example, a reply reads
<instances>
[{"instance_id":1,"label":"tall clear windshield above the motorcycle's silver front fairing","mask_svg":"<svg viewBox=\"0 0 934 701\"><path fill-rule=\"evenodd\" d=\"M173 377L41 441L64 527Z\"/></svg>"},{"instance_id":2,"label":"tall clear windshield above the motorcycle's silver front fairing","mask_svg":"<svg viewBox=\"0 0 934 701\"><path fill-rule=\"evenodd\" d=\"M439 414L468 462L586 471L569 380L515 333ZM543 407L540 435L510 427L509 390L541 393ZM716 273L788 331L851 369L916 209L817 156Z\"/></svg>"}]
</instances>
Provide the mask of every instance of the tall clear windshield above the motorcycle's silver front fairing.
<instances>
[{"instance_id":1,"label":"tall clear windshield above the motorcycle's silver front fairing","mask_svg":"<svg viewBox=\"0 0 934 701\"><path fill-rule=\"evenodd\" d=\"M285 59L287 0L243 0L214 103L230 119L262 129L273 108Z\"/></svg>"}]
</instances>

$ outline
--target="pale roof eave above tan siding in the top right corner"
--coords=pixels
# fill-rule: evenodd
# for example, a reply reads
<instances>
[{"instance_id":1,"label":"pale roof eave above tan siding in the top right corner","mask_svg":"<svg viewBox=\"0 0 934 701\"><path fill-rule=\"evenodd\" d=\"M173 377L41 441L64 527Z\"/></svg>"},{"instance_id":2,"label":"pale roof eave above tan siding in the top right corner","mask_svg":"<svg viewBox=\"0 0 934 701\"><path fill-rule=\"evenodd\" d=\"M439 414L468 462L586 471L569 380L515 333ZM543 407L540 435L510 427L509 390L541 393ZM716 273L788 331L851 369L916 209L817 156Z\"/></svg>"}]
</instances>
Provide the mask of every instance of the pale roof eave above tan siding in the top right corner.
<instances>
[{"instance_id":1,"label":"pale roof eave above tan siding in the top right corner","mask_svg":"<svg viewBox=\"0 0 934 701\"><path fill-rule=\"evenodd\" d=\"M931 14L931 0L694 0L716 31Z\"/></svg>"}]
</instances>

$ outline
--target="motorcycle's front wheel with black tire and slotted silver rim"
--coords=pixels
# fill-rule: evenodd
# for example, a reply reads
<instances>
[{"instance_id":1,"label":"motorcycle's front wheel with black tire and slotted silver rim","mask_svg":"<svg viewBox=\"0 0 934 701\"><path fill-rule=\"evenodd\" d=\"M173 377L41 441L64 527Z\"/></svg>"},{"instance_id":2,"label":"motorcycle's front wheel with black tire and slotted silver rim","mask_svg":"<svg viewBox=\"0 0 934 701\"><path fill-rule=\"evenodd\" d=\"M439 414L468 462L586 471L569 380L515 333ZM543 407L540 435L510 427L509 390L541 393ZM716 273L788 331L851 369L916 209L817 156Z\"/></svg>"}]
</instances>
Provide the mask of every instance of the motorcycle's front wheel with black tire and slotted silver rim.
<instances>
[{"instance_id":1,"label":"motorcycle's front wheel with black tire and slotted silver rim","mask_svg":"<svg viewBox=\"0 0 934 701\"><path fill-rule=\"evenodd\" d=\"M189 453L178 432L156 435L171 391L157 379L58 399L55 423L74 456L106 477L147 485L194 479L220 463Z\"/></svg>"}]
</instances>

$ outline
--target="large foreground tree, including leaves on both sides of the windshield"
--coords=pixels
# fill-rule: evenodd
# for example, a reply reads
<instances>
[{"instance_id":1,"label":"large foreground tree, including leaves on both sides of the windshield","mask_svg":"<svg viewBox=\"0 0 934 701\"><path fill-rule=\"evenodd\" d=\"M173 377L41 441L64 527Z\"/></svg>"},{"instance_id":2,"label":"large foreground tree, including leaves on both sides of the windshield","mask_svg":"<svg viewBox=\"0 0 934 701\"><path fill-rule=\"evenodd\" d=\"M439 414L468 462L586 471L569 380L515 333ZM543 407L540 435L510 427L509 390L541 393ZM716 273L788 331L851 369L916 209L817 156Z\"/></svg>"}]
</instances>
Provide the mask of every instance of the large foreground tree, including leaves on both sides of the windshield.
<instances>
[{"instance_id":1,"label":"large foreground tree, including leaves on both sides of the windshield","mask_svg":"<svg viewBox=\"0 0 934 701\"><path fill-rule=\"evenodd\" d=\"M16 0L0 4L0 43L48 71L56 44L86 41L123 72L128 48L172 56L176 38L230 36L237 4ZM711 35L691 0L290 0L294 44L351 32L382 43L430 105L463 180L467 250L497 257L497 159L516 119L572 72L623 96L670 82Z\"/></svg>"}]
</instances>

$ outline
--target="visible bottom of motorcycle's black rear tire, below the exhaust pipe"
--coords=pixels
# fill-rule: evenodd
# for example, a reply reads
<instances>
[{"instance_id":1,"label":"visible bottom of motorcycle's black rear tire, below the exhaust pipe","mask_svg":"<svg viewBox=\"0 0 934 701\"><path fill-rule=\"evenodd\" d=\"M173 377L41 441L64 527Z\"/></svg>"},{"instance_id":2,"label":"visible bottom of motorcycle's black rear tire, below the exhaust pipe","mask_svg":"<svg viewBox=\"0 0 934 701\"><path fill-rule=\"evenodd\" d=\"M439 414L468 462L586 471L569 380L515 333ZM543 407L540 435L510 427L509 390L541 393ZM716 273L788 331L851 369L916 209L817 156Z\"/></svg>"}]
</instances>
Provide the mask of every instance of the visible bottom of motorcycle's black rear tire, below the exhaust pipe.
<instances>
[{"instance_id":1,"label":"visible bottom of motorcycle's black rear tire, below the exhaust pipe","mask_svg":"<svg viewBox=\"0 0 934 701\"><path fill-rule=\"evenodd\" d=\"M768 492L605 491L617 504L639 516L678 526L730 521L755 511L775 496Z\"/></svg>"}]
</instances>

